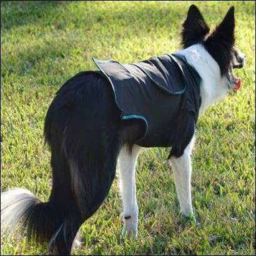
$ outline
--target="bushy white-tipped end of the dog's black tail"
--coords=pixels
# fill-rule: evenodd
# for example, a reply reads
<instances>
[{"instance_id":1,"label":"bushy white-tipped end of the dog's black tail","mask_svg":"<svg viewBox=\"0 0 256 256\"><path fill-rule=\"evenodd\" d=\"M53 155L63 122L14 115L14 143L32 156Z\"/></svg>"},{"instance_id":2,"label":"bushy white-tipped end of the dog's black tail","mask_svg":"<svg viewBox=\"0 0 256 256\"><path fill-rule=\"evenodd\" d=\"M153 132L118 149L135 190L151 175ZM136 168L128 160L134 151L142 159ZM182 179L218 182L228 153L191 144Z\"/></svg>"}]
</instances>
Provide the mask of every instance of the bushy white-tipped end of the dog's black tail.
<instances>
[{"instance_id":1,"label":"bushy white-tipped end of the dog's black tail","mask_svg":"<svg viewBox=\"0 0 256 256\"><path fill-rule=\"evenodd\" d=\"M52 202L40 202L29 190L12 189L1 194L1 236L11 237L20 225L21 234L26 235L29 242L34 240L46 248L49 245L55 253L58 250L52 242L63 221L61 209Z\"/></svg>"}]
</instances>

